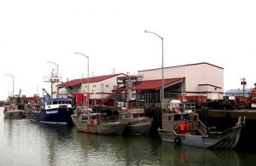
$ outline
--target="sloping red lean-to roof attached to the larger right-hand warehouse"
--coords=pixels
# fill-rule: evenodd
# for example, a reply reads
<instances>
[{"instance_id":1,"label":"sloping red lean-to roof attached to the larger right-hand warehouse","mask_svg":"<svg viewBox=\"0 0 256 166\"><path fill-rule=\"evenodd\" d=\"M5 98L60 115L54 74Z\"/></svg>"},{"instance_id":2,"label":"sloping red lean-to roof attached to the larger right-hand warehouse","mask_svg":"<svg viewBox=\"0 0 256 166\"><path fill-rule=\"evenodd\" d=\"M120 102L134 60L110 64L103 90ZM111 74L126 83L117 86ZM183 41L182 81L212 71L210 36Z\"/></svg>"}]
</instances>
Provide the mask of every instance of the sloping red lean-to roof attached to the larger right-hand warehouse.
<instances>
[{"instance_id":1,"label":"sloping red lean-to roof attached to the larger right-hand warehouse","mask_svg":"<svg viewBox=\"0 0 256 166\"><path fill-rule=\"evenodd\" d=\"M182 80L183 80L182 77L164 79L164 87L179 83ZM161 87L162 87L162 80L156 79L156 80L138 82L135 85L135 90L160 89Z\"/></svg>"}]
</instances>

